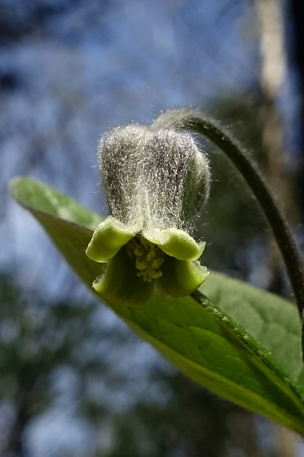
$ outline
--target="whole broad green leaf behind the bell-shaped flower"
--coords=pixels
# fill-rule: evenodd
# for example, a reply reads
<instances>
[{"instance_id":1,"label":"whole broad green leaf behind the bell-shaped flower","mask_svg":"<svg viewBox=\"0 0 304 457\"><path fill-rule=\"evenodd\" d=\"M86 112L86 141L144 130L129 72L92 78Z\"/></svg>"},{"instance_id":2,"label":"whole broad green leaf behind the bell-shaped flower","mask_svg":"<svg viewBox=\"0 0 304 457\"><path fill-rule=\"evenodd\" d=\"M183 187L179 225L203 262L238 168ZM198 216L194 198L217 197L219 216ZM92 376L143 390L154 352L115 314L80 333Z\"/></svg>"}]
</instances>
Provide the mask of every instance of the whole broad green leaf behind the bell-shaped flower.
<instances>
[{"instance_id":1,"label":"whole broad green leaf behind the bell-shaped flower","mask_svg":"<svg viewBox=\"0 0 304 457\"><path fill-rule=\"evenodd\" d=\"M100 216L32 179L15 179L11 190L91 287L103 264L85 249ZM194 381L304 436L300 319L293 303L212 272L186 298L155 292L141 308L107 303Z\"/></svg>"}]
</instances>

